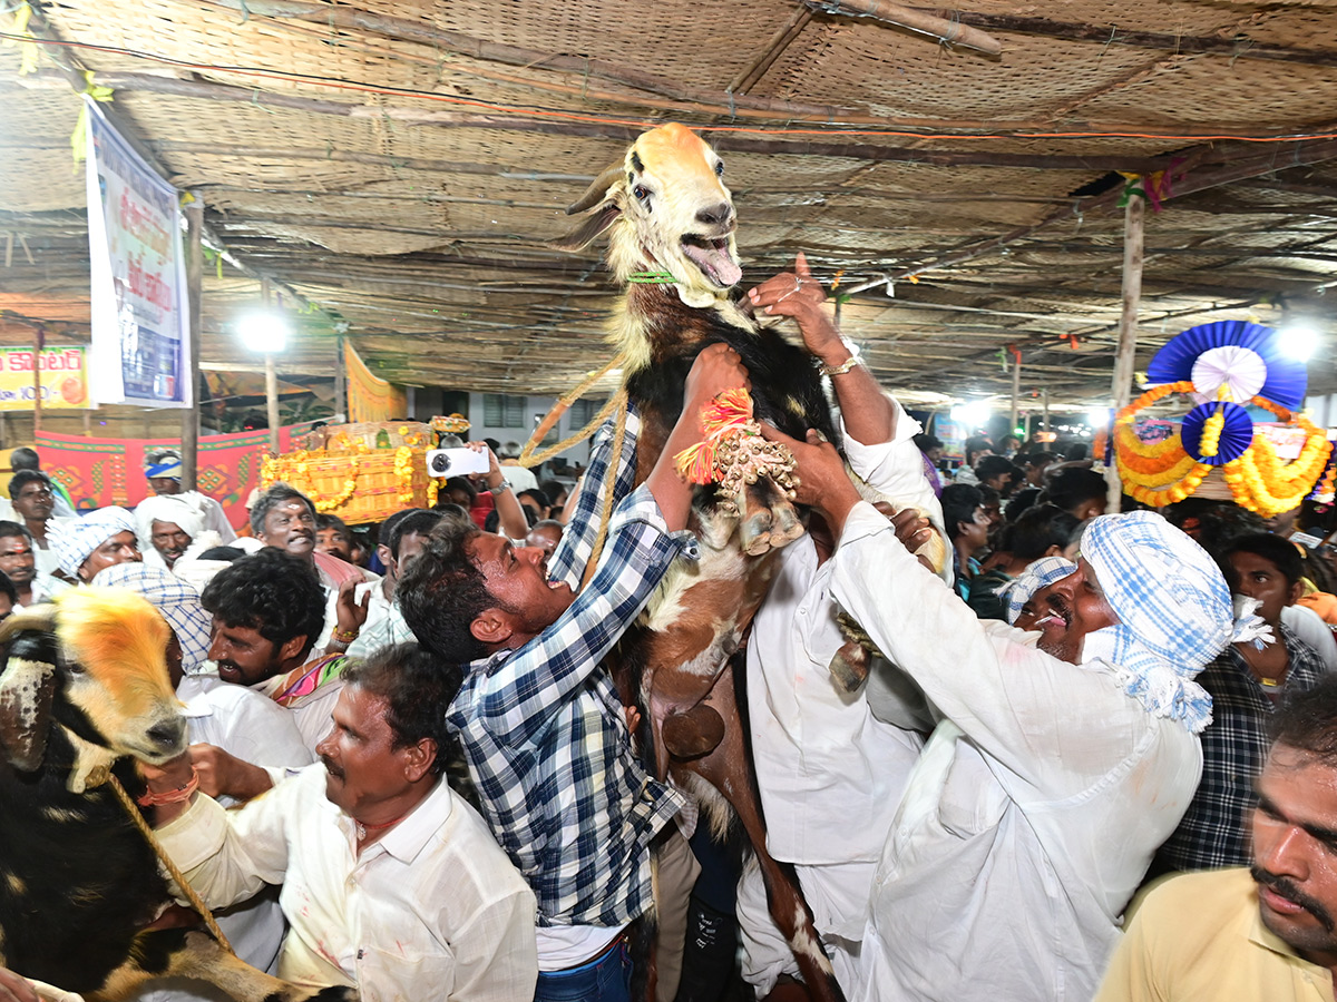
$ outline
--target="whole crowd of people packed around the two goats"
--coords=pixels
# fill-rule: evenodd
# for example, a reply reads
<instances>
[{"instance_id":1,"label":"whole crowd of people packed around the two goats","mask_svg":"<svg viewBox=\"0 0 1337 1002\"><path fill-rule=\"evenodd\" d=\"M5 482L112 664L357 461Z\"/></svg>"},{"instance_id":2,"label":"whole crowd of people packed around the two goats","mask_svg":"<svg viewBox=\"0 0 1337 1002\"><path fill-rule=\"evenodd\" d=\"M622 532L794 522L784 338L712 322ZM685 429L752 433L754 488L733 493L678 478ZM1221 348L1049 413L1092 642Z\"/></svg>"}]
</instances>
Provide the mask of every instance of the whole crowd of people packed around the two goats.
<instances>
[{"instance_id":1,"label":"whole crowd of people packed around the two goats","mask_svg":"<svg viewBox=\"0 0 1337 1002\"><path fill-rule=\"evenodd\" d=\"M842 442L766 430L810 524L753 624L746 719L769 851L845 995L1332 999L1326 548L1225 501L1104 514L1104 476L1042 444L971 438L953 477L786 298L751 302L834 373ZM62 513L19 450L0 605L118 587L160 611L191 745L143 768L151 820L257 967L364 999L706 1002L739 977L802 999L737 832L647 764L606 664L697 558L674 457L747 381L703 350L639 485L635 414L579 485L479 442L485 474L374 534L286 484L233 526L171 453L134 512ZM932 533L943 566L916 556ZM845 615L877 652L857 692L832 669ZM0 971L0 999L32 998Z\"/></svg>"}]
</instances>

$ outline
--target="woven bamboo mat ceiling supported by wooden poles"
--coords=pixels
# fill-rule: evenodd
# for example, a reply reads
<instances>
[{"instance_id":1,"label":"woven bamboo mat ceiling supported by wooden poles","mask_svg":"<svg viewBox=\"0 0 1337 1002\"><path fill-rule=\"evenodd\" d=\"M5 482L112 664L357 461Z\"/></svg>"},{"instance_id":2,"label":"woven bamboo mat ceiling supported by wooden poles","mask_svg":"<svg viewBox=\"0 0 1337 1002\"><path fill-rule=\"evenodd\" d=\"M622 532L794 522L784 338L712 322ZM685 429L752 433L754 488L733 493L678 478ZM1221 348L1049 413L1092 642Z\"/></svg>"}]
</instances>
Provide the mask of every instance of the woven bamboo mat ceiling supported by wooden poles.
<instances>
[{"instance_id":1,"label":"woven bamboo mat ceiling supported by wooden poles","mask_svg":"<svg viewBox=\"0 0 1337 1002\"><path fill-rule=\"evenodd\" d=\"M346 333L393 381L568 389L606 358L614 290L598 248L543 242L631 136L681 120L725 156L746 283L798 250L845 289L896 279L841 307L890 387L1007 394L1015 347L1028 398L1106 398L1116 171L1170 168L1138 369L1194 323L1306 317L1328 338L1312 390L1337 391L1333 0L936 11L996 57L793 0L33 7L63 44L27 75L0 48L0 339L13 317L87 337L68 138L70 71L91 69L229 253L205 282L215 370L255 366L230 325L269 277L302 309L281 373L332 374Z\"/></svg>"}]
</instances>

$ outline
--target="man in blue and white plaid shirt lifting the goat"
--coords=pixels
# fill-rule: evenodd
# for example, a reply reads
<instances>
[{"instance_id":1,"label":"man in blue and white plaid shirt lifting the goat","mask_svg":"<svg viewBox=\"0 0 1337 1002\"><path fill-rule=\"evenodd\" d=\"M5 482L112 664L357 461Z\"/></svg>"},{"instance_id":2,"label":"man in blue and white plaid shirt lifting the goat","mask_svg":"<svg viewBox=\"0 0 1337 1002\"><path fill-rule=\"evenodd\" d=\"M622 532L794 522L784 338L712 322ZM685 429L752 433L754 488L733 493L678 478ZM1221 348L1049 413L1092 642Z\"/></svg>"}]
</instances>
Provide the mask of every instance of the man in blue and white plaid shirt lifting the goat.
<instances>
[{"instance_id":1,"label":"man in blue and white plaid shirt lifting the goat","mask_svg":"<svg viewBox=\"0 0 1337 1002\"><path fill-rule=\"evenodd\" d=\"M600 661L679 556L691 488L674 456L702 438L701 409L747 385L739 357L706 347L687 377L682 418L646 482L631 490L639 420L620 456L604 428L576 514L554 554L444 521L400 584L404 619L439 656L468 663L451 707L483 812L537 898L537 999L628 997L622 930L650 907L650 842L682 798L631 749L626 711ZM608 466L618 504L599 568L592 550ZM602 994L598 994L602 993Z\"/></svg>"}]
</instances>

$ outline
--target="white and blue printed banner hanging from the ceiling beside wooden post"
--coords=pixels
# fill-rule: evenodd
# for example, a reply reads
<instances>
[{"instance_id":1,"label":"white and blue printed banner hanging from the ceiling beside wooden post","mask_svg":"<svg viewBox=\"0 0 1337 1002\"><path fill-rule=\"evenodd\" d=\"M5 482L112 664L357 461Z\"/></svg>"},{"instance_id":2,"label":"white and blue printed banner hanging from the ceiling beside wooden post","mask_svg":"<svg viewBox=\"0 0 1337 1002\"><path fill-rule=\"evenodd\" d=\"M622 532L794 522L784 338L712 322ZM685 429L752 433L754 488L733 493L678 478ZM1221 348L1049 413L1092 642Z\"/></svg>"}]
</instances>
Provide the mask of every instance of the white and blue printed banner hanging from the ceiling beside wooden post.
<instances>
[{"instance_id":1,"label":"white and blue printed banner hanging from the ceiling beside wooden post","mask_svg":"<svg viewBox=\"0 0 1337 1002\"><path fill-rule=\"evenodd\" d=\"M98 403L189 407L190 317L180 195L116 132L87 114L91 391Z\"/></svg>"}]
</instances>

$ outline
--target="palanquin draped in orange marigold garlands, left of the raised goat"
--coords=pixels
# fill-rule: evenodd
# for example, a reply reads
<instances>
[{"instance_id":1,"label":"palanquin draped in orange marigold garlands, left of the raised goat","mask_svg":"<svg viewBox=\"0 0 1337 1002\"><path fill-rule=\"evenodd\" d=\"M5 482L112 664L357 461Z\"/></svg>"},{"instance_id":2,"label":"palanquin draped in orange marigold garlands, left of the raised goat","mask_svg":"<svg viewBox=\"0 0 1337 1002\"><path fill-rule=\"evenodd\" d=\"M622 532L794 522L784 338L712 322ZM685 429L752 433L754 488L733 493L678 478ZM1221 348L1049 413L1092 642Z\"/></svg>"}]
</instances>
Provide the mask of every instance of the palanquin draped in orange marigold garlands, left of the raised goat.
<instances>
[{"instance_id":1,"label":"palanquin draped in orange marigold garlands, left of the raised goat","mask_svg":"<svg viewBox=\"0 0 1337 1002\"><path fill-rule=\"evenodd\" d=\"M314 429L299 448L266 456L261 489L283 481L306 494L321 514L349 525L380 522L405 508L436 504L440 481L427 473L437 436L469 430L459 414L417 421L365 421ZM297 444L297 442L294 442Z\"/></svg>"}]
</instances>

